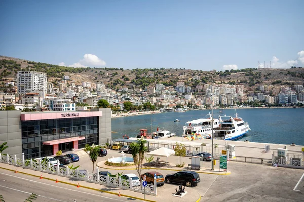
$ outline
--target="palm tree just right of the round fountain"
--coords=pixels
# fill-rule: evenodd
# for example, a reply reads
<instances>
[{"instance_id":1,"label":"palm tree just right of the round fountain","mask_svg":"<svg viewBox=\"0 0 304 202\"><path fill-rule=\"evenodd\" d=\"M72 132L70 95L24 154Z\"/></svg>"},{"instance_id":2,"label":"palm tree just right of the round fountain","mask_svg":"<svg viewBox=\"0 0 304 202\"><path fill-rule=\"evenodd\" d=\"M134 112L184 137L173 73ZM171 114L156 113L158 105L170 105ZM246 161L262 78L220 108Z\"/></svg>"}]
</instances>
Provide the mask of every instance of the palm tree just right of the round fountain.
<instances>
[{"instance_id":1,"label":"palm tree just right of the round fountain","mask_svg":"<svg viewBox=\"0 0 304 202\"><path fill-rule=\"evenodd\" d=\"M136 167L136 171L139 176L141 176L142 164L144 161L144 153L148 150L146 147L147 140L144 140L143 137L137 139L136 142L130 144L130 149L132 150L132 157Z\"/></svg>"}]
</instances>

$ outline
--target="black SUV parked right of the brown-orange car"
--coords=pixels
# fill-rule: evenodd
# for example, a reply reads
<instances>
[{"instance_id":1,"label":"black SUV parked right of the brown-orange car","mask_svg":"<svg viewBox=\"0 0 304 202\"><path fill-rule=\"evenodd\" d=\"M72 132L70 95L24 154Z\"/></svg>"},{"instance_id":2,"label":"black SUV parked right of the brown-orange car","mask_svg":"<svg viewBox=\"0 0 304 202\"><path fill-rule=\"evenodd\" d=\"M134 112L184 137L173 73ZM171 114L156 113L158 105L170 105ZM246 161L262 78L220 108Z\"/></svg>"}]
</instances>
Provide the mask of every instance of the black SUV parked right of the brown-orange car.
<instances>
[{"instance_id":1,"label":"black SUV parked right of the brown-orange car","mask_svg":"<svg viewBox=\"0 0 304 202\"><path fill-rule=\"evenodd\" d=\"M174 174L168 174L165 177L165 181L170 183L177 183L177 184L185 184L187 187L192 187L197 185L200 180L200 176L195 171L179 171Z\"/></svg>"}]
</instances>

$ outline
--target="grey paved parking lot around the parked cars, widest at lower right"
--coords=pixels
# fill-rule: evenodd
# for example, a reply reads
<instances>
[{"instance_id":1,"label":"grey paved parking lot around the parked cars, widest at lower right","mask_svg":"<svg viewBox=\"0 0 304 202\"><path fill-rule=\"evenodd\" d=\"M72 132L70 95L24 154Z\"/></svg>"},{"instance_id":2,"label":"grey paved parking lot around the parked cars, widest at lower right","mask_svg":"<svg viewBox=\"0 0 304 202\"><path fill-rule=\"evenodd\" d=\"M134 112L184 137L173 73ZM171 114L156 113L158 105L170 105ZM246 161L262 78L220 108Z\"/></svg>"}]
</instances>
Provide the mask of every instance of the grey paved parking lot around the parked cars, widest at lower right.
<instances>
[{"instance_id":1,"label":"grey paved parking lot around the parked cars, widest at lower right","mask_svg":"<svg viewBox=\"0 0 304 202\"><path fill-rule=\"evenodd\" d=\"M75 151L80 157L79 162L74 162L74 165L80 165L80 169L86 169L92 172L93 164L89 159L88 154L83 150ZM120 151L108 150L108 155L105 157L98 157L97 162L105 161L106 158L120 157ZM126 156L131 156L126 154ZM182 157L182 162L189 163L188 157ZM174 165L179 163L179 157L171 156L168 158L168 162L172 162ZM206 167L210 167L210 162L203 162ZM217 165L218 166L218 162ZM96 167L95 167L96 169ZM101 170L105 170L100 168ZM267 165L241 163L241 162L229 162L230 175L212 175L199 173L201 182L191 188L185 190L191 190L192 193L197 192L202 196L201 201L249 201L249 200L267 200L267 201L302 201L304 192L304 179L300 178L304 171L301 169L272 167ZM134 173L136 170L114 170L108 169L112 174L121 173ZM146 171L158 171L164 175L169 173L175 173L177 171L171 170L142 170L142 174ZM95 172L95 171L94 171ZM295 191L294 188L297 185ZM175 188L178 188L176 184L165 183L162 187L158 188L158 195L166 195L168 201L175 201L176 198L168 193L175 193ZM188 201L195 201L197 198L192 198L189 195L185 196L190 199Z\"/></svg>"}]
</instances>

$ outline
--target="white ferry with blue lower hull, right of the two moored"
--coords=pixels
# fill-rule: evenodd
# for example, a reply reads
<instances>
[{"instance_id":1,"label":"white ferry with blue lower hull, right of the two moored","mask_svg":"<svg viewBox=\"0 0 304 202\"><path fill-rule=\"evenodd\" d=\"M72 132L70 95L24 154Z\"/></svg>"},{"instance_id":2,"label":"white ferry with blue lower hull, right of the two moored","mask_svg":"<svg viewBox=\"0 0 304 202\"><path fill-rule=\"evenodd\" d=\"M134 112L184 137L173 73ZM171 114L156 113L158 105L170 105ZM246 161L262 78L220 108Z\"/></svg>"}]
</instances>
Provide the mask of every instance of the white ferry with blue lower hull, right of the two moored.
<instances>
[{"instance_id":1,"label":"white ferry with blue lower hull, right of the two moored","mask_svg":"<svg viewBox=\"0 0 304 202\"><path fill-rule=\"evenodd\" d=\"M220 125L214 128L214 137L223 140L235 140L244 136L250 131L249 124L244 122L242 118L231 116L219 116Z\"/></svg>"}]
</instances>

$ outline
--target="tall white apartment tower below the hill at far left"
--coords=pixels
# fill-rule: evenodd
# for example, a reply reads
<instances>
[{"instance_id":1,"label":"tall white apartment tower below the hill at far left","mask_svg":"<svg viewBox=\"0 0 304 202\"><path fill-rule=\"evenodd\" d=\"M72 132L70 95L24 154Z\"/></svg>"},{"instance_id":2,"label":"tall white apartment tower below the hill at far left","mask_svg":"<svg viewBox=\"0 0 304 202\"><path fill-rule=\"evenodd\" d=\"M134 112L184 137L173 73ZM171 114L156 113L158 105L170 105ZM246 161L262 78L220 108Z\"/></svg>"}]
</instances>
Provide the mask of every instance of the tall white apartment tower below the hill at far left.
<instances>
[{"instance_id":1,"label":"tall white apartment tower below the hill at far left","mask_svg":"<svg viewBox=\"0 0 304 202\"><path fill-rule=\"evenodd\" d=\"M33 91L47 92L47 74L43 72L28 71L17 73L18 93L25 94Z\"/></svg>"}]
</instances>

